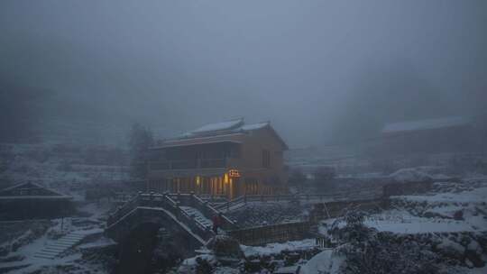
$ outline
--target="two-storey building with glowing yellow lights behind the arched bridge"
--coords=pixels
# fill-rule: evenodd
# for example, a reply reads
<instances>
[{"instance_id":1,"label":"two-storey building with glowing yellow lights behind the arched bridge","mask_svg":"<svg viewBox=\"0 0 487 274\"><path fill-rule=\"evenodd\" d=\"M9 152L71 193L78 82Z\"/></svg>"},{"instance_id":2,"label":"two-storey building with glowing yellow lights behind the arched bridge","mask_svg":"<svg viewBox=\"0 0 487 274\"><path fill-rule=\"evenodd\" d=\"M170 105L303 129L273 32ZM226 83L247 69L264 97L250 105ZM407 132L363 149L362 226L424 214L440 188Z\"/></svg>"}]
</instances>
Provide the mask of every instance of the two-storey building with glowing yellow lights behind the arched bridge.
<instances>
[{"instance_id":1,"label":"two-storey building with glowing yellow lights behind the arched bridge","mask_svg":"<svg viewBox=\"0 0 487 274\"><path fill-rule=\"evenodd\" d=\"M286 191L287 144L271 123L211 123L151 149L147 188L227 196Z\"/></svg>"}]
</instances>

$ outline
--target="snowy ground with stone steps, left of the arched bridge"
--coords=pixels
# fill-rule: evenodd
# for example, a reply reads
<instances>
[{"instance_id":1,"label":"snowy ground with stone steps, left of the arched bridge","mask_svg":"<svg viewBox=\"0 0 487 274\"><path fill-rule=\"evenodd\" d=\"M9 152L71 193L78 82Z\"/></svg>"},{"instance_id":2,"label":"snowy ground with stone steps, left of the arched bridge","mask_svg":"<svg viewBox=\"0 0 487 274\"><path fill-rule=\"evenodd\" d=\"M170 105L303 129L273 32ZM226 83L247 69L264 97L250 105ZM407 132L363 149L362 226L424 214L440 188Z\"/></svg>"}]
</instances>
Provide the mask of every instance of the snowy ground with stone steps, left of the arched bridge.
<instances>
[{"instance_id":1,"label":"snowy ground with stone steps, left of the arched bridge","mask_svg":"<svg viewBox=\"0 0 487 274\"><path fill-rule=\"evenodd\" d=\"M106 215L108 208L104 204L87 204L81 210L88 217L52 219L45 233L32 236L20 247L0 257L0 269L11 269L8 273L107 273L103 262L85 260L84 253L114 244L102 237L104 223L98 220ZM5 244L9 242L1 245ZM56 257L51 259L51 255Z\"/></svg>"}]
</instances>

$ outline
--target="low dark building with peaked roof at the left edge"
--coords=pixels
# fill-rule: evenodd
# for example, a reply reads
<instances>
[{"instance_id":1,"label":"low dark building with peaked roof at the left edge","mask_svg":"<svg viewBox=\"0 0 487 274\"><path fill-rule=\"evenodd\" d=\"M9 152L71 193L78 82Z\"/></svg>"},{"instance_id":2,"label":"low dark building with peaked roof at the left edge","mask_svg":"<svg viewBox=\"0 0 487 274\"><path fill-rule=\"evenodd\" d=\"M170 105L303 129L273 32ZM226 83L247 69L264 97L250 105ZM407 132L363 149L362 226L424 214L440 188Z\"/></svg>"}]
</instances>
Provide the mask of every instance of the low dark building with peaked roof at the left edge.
<instances>
[{"instance_id":1,"label":"low dark building with peaked roof at the left edge","mask_svg":"<svg viewBox=\"0 0 487 274\"><path fill-rule=\"evenodd\" d=\"M70 215L72 196L27 182L0 190L0 220L55 218Z\"/></svg>"}]
</instances>

